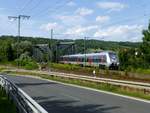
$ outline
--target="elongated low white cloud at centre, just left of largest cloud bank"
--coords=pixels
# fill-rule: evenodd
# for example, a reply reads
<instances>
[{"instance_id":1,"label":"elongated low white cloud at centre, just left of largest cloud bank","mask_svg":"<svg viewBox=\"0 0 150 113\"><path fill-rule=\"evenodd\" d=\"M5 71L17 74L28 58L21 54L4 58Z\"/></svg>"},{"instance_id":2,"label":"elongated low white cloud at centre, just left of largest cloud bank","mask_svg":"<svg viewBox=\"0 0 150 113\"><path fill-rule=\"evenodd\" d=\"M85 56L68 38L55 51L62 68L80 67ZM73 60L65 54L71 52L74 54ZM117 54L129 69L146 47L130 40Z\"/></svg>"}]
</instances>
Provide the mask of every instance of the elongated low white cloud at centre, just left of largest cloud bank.
<instances>
[{"instance_id":1,"label":"elongated low white cloud at centre, just left of largest cloud bank","mask_svg":"<svg viewBox=\"0 0 150 113\"><path fill-rule=\"evenodd\" d=\"M75 26L72 28L69 28L65 33L66 34L76 34L76 35L85 35L85 34L89 34L92 30L97 29L98 26L97 25L92 25L92 26Z\"/></svg>"}]
</instances>

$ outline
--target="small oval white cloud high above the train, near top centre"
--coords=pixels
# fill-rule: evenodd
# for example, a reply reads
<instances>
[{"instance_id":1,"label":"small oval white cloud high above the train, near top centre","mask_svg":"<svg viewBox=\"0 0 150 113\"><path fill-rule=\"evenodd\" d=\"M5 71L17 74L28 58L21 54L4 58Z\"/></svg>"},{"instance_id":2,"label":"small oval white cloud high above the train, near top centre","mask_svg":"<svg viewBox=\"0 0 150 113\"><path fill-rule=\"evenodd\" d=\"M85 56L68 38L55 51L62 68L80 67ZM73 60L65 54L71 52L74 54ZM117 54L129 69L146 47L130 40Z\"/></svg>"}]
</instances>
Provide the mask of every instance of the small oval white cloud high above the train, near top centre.
<instances>
[{"instance_id":1,"label":"small oval white cloud high above the train, near top centre","mask_svg":"<svg viewBox=\"0 0 150 113\"><path fill-rule=\"evenodd\" d=\"M78 8L75 11L75 13L80 16L86 16L86 15L91 15L93 13L93 10L83 7L83 8Z\"/></svg>"}]
</instances>

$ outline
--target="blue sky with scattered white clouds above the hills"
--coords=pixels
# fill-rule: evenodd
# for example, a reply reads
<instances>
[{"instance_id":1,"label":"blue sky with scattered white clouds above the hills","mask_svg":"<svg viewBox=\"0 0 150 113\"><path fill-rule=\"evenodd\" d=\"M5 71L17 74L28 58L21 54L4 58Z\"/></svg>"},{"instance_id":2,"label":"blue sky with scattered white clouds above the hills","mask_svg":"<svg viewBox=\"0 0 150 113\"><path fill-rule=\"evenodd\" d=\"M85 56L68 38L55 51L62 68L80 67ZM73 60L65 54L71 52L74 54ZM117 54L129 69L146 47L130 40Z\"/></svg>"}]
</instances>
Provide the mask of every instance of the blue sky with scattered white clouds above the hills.
<instances>
[{"instance_id":1,"label":"blue sky with scattered white clouds above the hills","mask_svg":"<svg viewBox=\"0 0 150 113\"><path fill-rule=\"evenodd\" d=\"M57 39L142 41L150 19L150 0L0 0L0 35Z\"/></svg>"}]
</instances>

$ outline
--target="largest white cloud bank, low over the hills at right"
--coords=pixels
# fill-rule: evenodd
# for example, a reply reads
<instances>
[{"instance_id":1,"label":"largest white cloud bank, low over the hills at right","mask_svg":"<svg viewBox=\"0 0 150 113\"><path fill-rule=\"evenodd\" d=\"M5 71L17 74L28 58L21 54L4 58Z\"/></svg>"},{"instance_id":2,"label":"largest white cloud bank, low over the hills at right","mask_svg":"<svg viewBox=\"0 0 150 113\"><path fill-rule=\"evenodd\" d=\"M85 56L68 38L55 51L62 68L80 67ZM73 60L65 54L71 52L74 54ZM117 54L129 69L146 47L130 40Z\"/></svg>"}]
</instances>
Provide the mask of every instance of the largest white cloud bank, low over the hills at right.
<instances>
[{"instance_id":1,"label":"largest white cloud bank, low over the hills at right","mask_svg":"<svg viewBox=\"0 0 150 113\"><path fill-rule=\"evenodd\" d=\"M141 41L142 29L142 25L111 26L106 29L98 30L94 36L104 37L105 40L113 41Z\"/></svg>"}]
</instances>

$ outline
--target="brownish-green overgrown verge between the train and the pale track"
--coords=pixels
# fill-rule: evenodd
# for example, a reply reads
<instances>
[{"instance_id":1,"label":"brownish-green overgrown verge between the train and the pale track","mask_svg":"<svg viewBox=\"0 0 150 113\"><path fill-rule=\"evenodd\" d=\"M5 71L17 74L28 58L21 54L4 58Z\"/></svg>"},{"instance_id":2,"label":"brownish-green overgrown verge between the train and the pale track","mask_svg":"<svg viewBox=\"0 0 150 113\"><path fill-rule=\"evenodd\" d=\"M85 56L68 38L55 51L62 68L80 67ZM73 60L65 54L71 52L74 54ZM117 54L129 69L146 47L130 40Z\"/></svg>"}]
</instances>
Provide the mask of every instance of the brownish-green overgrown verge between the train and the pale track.
<instances>
[{"instance_id":1,"label":"brownish-green overgrown verge between the train and the pale track","mask_svg":"<svg viewBox=\"0 0 150 113\"><path fill-rule=\"evenodd\" d=\"M112 78L119 80L129 80L138 82L150 82L150 70L137 69L133 71L119 71L99 69L94 67L81 67L73 64L57 64L51 63L48 65L54 71L74 73L79 75L93 75L93 70L96 72L96 76L104 78Z\"/></svg>"}]
</instances>

